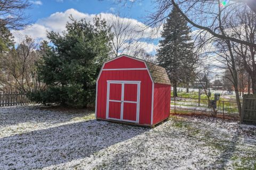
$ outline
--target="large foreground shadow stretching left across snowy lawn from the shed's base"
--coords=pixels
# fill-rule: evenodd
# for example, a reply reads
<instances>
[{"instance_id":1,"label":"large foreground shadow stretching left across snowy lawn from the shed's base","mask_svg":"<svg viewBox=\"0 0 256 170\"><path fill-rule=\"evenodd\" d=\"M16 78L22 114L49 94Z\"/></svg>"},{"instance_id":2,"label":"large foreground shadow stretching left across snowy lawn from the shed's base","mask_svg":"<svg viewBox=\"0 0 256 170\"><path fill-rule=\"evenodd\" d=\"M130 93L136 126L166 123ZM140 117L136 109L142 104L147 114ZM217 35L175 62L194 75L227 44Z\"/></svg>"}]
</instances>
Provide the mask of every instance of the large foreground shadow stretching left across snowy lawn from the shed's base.
<instances>
[{"instance_id":1,"label":"large foreground shadow stretching left across snowy lawn from the shed's base","mask_svg":"<svg viewBox=\"0 0 256 170\"><path fill-rule=\"evenodd\" d=\"M146 131L149 129L90 120L13 135L0 139L0 167L34 169L58 165L89 157Z\"/></svg>"}]
</instances>

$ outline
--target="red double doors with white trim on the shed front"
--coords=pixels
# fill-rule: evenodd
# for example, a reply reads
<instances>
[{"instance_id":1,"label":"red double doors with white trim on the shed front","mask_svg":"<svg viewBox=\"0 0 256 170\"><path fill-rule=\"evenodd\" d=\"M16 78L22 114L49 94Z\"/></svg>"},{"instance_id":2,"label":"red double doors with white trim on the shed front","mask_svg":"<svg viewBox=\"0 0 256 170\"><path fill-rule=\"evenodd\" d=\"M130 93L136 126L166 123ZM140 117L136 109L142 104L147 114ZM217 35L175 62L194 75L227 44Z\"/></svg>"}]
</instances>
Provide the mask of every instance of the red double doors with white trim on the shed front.
<instances>
[{"instance_id":1,"label":"red double doors with white trim on the shed front","mask_svg":"<svg viewBox=\"0 0 256 170\"><path fill-rule=\"evenodd\" d=\"M138 123L139 102L140 81L107 81L107 119Z\"/></svg>"}]
</instances>

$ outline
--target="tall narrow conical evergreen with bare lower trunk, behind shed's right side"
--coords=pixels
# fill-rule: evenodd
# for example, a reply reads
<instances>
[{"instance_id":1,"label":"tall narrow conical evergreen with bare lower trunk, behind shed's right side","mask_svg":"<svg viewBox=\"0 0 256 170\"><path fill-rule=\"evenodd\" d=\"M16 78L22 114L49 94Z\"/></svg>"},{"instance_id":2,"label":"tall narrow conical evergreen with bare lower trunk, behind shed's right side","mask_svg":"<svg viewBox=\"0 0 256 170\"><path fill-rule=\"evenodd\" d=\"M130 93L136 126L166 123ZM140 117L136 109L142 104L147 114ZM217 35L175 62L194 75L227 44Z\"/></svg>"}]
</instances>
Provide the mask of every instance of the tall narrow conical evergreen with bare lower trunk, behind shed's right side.
<instances>
[{"instance_id":1,"label":"tall narrow conical evergreen with bare lower trunk, behind shed's right side","mask_svg":"<svg viewBox=\"0 0 256 170\"><path fill-rule=\"evenodd\" d=\"M196 57L194 44L189 36L187 21L173 8L163 26L162 40L159 41L157 61L163 66L173 84L173 95L177 96L177 84L189 84L194 78Z\"/></svg>"}]
</instances>

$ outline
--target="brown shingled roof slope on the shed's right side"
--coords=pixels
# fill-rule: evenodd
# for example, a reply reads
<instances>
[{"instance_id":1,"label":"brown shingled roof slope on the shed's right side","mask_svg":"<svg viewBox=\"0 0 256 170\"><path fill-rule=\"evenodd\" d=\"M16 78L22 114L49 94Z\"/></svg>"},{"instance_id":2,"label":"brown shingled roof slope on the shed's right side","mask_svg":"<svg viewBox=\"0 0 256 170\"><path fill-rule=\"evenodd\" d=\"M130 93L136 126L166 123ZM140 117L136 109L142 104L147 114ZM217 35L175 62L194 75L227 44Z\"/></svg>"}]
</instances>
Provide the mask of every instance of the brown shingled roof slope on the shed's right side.
<instances>
[{"instance_id":1,"label":"brown shingled roof slope on the shed's right side","mask_svg":"<svg viewBox=\"0 0 256 170\"><path fill-rule=\"evenodd\" d=\"M148 70L151 74L154 83L171 85L170 79L164 67L146 61L145 63L148 67Z\"/></svg>"}]
</instances>

